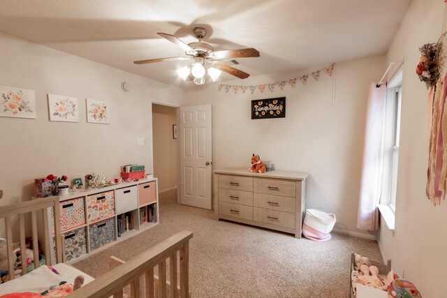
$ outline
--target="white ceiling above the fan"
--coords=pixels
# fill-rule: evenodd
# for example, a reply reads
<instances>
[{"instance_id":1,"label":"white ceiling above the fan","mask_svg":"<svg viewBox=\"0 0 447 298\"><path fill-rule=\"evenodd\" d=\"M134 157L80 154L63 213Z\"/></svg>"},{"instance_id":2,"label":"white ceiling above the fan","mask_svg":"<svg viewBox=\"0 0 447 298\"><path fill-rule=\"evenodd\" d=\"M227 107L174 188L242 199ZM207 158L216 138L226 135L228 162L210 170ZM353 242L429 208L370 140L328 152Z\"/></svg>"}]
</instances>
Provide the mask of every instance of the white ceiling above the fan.
<instances>
[{"instance_id":1,"label":"white ceiling above the fan","mask_svg":"<svg viewBox=\"0 0 447 298\"><path fill-rule=\"evenodd\" d=\"M412 0L11 0L0 1L0 31L34 43L188 87L175 70L191 61L135 65L184 56L157 32L214 50L255 47L236 66L251 75L299 70L385 54ZM0 47L1 49L1 47ZM219 82L235 77L223 74Z\"/></svg>"}]
</instances>

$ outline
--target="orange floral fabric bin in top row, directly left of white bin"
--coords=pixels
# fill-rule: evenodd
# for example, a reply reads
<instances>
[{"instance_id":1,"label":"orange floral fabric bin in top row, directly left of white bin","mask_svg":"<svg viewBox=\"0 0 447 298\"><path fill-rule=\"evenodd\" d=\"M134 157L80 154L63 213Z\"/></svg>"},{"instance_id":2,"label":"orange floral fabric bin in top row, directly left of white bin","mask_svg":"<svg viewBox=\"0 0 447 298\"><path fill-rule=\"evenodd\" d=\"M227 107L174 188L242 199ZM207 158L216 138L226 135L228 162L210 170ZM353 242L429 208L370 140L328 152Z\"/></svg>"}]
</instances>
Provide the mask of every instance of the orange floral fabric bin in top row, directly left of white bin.
<instances>
[{"instance_id":1,"label":"orange floral fabric bin in top row, directly left of white bin","mask_svg":"<svg viewBox=\"0 0 447 298\"><path fill-rule=\"evenodd\" d=\"M87 220L96 223L115 215L115 195L113 191L87 195Z\"/></svg>"}]
</instances>

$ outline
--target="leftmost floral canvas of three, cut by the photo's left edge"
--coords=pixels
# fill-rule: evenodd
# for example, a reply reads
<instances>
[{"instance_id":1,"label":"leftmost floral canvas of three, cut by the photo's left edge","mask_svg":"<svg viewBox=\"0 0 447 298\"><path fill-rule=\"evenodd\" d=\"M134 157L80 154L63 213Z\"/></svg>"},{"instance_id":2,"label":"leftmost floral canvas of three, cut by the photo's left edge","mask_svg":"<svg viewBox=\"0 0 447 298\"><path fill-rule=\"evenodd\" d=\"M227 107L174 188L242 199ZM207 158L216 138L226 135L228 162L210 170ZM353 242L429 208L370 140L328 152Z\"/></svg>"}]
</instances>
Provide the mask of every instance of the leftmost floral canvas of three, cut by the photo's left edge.
<instances>
[{"instance_id":1,"label":"leftmost floral canvas of three, cut by the photo's left edge","mask_svg":"<svg viewBox=\"0 0 447 298\"><path fill-rule=\"evenodd\" d=\"M0 117L36 119L34 90L0 86Z\"/></svg>"}]
</instances>

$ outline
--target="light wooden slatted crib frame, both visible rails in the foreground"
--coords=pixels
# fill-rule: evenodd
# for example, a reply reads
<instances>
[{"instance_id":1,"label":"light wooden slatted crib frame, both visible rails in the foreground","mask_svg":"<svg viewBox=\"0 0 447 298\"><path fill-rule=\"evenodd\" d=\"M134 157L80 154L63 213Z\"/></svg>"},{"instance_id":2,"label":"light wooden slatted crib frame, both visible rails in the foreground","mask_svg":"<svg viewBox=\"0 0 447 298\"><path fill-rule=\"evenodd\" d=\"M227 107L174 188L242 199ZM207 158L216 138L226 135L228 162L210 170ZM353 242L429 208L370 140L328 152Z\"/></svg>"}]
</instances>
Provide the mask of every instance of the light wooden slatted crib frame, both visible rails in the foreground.
<instances>
[{"instance_id":1,"label":"light wooden slatted crib frame, both visible rails in the foreground","mask_svg":"<svg viewBox=\"0 0 447 298\"><path fill-rule=\"evenodd\" d=\"M49 207L53 207L54 210L56 262L61 263L63 260L63 240L59 226L59 199L57 197L43 198L0 207L0 218L4 218L6 229L7 252L8 257L10 257L8 258L8 271L10 272L9 278L11 280L20 274L20 271L17 272L14 270L15 259L11 257L13 255L13 225L17 218L20 234L20 250L22 252L25 251L25 221L28 214L31 214L33 246L37 248L38 241L40 241L45 258L51 260L50 245L53 239L48 239L48 237L38 239L38 228L43 228L45 230L43 234L48 235L48 224L44 221L39 226L37 220L38 212L42 212L43 217L47 218ZM87 285L82 286L82 288L68 296L98 298L110 296L114 298L123 297L123 289L130 286L131 297L189 297L189 239L192 237L192 232L179 232L125 263L114 258L115 265L121 265L114 266L115 268L103 276L87 283ZM36 269L39 267L38 259L38 249L34 249L34 267ZM170 263L170 282L166 278L166 260L169 260ZM177 272L177 262L179 262L179 272ZM24 253L22 253L22 264L26 264ZM159 276L154 276L154 268L157 266ZM21 271L22 275L27 274L27 267L22 266ZM177 278L179 278L179 285L177 285ZM144 284L141 284L141 281Z\"/></svg>"}]
</instances>

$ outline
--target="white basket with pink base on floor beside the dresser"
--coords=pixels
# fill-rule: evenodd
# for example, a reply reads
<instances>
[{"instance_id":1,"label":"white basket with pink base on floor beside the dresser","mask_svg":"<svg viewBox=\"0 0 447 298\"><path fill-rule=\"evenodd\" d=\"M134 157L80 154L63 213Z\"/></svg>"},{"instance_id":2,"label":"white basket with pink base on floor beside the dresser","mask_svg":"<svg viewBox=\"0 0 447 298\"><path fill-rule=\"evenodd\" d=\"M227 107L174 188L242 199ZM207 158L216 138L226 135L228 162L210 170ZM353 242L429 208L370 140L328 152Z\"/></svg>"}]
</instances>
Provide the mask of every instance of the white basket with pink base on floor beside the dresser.
<instances>
[{"instance_id":1,"label":"white basket with pink base on floor beside the dresser","mask_svg":"<svg viewBox=\"0 0 447 298\"><path fill-rule=\"evenodd\" d=\"M330 239L330 231L334 228L336 220L333 213L307 209L305 222L302 224L302 234L311 240L327 241Z\"/></svg>"}]
</instances>

